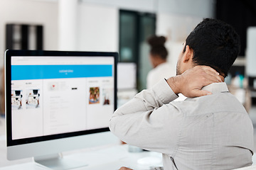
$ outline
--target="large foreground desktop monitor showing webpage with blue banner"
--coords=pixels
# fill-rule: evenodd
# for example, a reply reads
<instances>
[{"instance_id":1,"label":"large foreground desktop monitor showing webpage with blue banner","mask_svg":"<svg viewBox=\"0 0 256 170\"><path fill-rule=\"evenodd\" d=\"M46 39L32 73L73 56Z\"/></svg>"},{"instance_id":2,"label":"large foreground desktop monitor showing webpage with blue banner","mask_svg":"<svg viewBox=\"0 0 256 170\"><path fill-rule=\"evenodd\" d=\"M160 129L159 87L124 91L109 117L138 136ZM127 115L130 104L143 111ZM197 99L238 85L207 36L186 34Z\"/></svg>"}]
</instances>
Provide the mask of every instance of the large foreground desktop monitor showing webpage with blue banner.
<instances>
[{"instance_id":1,"label":"large foreground desktop monitor showing webpage with blue banner","mask_svg":"<svg viewBox=\"0 0 256 170\"><path fill-rule=\"evenodd\" d=\"M117 60L117 52L6 50L7 159L34 157L53 169L87 164L58 153L107 144Z\"/></svg>"}]
</instances>

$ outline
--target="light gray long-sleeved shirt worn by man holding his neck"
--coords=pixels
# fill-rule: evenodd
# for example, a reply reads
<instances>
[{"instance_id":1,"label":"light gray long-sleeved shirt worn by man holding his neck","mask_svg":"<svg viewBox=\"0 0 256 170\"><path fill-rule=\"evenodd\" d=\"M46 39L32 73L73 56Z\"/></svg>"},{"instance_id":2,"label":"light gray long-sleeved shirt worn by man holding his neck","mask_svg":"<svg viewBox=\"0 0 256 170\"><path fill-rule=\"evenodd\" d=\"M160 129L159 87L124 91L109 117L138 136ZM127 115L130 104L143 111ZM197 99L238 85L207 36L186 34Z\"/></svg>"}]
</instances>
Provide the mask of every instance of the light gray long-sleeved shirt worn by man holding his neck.
<instances>
[{"instance_id":1,"label":"light gray long-sleeved shirt worn by man holding his neck","mask_svg":"<svg viewBox=\"0 0 256 170\"><path fill-rule=\"evenodd\" d=\"M117 109L110 130L129 145L163 154L164 169L235 169L252 164L253 128L225 83L185 101L163 79Z\"/></svg>"}]
</instances>

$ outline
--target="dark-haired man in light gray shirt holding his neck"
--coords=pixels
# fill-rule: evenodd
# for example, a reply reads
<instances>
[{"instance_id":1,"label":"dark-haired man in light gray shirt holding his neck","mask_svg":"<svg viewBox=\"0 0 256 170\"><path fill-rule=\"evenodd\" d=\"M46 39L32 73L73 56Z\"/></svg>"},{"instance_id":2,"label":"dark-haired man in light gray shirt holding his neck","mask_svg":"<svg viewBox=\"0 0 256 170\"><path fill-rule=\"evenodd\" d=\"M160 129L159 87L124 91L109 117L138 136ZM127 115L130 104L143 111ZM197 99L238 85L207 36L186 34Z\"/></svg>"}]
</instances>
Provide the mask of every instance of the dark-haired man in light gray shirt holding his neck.
<instances>
[{"instance_id":1,"label":"dark-haired man in light gray shirt holding his neck","mask_svg":"<svg viewBox=\"0 0 256 170\"><path fill-rule=\"evenodd\" d=\"M183 44L177 76L118 108L110 130L129 145L161 152L166 170L250 166L252 122L223 82L239 47L231 26L204 19ZM179 93L188 98L174 101Z\"/></svg>"}]
</instances>

